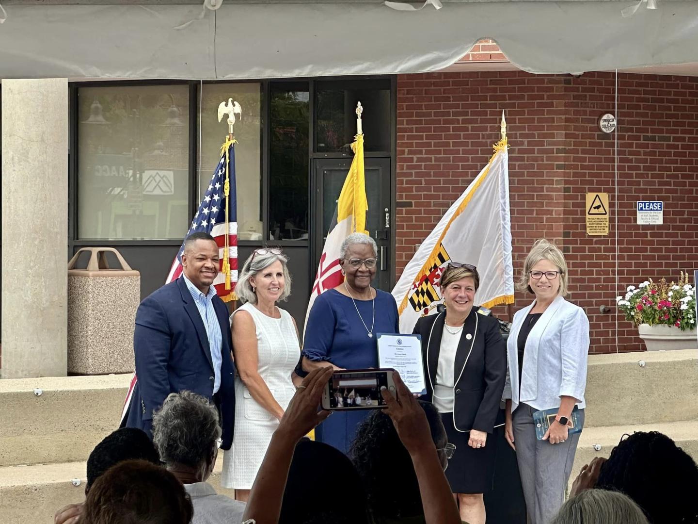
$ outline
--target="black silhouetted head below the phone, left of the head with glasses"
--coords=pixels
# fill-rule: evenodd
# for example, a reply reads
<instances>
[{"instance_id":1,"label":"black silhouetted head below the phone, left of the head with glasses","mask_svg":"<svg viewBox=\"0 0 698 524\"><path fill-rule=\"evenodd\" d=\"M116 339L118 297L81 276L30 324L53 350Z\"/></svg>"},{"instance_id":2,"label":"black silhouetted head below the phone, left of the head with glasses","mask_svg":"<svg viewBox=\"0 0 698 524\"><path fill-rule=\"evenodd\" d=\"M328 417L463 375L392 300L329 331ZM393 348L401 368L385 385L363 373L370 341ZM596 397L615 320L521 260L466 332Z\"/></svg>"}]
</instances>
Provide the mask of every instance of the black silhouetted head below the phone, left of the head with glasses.
<instances>
[{"instance_id":1,"label":"black silhouetted head below the phone, left of the head with glasses","mask_svg":"<svg viewBox=\"0 0 698 524\"><path fill-rule=\"evenodd\" d=\"M343 486L339 492L337 479ZM349 499L341 495L347 492L351 493ZM312 504L309 493L313 493ZM366 493L344 453L328 444L302 439L293 453L279 524L326 523L368 524Z\"/></svg>"}]
</instances>

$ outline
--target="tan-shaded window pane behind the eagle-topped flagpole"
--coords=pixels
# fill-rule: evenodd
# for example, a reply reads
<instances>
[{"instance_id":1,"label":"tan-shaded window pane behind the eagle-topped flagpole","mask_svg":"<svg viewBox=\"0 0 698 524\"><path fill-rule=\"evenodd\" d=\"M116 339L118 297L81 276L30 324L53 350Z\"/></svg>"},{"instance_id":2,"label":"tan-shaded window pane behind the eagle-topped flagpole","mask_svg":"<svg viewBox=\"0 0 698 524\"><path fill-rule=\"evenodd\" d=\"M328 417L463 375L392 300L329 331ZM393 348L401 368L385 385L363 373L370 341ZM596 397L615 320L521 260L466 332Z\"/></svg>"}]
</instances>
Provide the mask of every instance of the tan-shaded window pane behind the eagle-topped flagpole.
<instances>
[{"instance_id":1,"label":"tan-shaded window pane behind the eagle-topped flagpole","mask_svg":"<svg viewBox=\"0 0 698 524\"><path fill-rule=\"evenodd\" d=\"M262 240L262 86L258 82L217 82L202 85L199 201L221 159L221 145L228 133L228 117L218 122L218 104L237 101L242 118L235 120L235 182L237 189L237 238ZM203 115L203 118L201 117Z\"/></svg>"}]
</instances>

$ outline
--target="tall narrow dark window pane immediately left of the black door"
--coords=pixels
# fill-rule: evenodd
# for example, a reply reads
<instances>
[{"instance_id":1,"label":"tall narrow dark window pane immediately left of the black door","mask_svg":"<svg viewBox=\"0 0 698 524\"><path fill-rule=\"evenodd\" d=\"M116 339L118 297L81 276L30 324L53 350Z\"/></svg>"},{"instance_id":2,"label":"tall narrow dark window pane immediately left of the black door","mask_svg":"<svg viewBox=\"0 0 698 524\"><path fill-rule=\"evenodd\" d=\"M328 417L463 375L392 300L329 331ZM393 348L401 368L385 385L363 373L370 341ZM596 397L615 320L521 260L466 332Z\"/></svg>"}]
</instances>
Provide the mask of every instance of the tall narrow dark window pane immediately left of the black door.
<instances>
[{"instance_id":1,"label":"tall narrow dark window pane immediately left of the black door","mask_svg":"<svg viewBox=\"0 0 698 524\"><path fill-rule=\"evenodd\" d=\"M271 98L269 240L307 240L308 85L274 86Z\"/></svg>"}]
</instances>

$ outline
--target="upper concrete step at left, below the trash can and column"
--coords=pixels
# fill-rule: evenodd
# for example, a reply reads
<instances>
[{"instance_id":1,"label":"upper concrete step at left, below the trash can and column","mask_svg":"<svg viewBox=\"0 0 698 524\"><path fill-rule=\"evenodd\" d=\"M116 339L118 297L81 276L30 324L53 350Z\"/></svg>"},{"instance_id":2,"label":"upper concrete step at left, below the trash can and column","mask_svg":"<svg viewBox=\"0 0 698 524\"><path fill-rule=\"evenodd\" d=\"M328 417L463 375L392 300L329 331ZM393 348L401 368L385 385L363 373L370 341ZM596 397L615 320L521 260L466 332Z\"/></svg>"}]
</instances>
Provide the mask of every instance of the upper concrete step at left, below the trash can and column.
<instances>
[{"instance_id":1,"label":"upper concrete step at left, below the trash can and column","mask_svg":"<svg viewBox=\"0 0 698 524\"><path fill-rule=\"evenodd\" d=\"M87 460L119 427L130 381L131 374L1 379L0 467Z\"/></svg>"}]
</instances>

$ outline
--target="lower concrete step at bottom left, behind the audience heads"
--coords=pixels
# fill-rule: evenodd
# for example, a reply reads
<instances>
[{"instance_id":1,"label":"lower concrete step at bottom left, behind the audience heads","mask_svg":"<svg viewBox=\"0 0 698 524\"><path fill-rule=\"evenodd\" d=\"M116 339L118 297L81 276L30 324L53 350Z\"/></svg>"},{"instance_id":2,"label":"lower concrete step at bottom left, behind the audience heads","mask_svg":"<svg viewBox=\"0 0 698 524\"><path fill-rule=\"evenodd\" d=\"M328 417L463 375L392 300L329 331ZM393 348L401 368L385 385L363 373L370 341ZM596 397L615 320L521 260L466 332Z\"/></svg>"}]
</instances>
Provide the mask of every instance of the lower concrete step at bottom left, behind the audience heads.
<instances>
[{"instance_id":1,"label":"lower concrete step at bottom left, behind the audience heads","mask_svg":"<svg viewBox=\"0 0 698 524\"><path fill-rule=\"evenodd\" d=\"M209 482L218 493L234 497L234 490L221 488L223 453L219 453ZM74 479L80 485L73 484ZM0 500L3 524L53 524L57 509L84 501L87 479L84 462L0 467Z\"/></svg>"}]
</instances>

